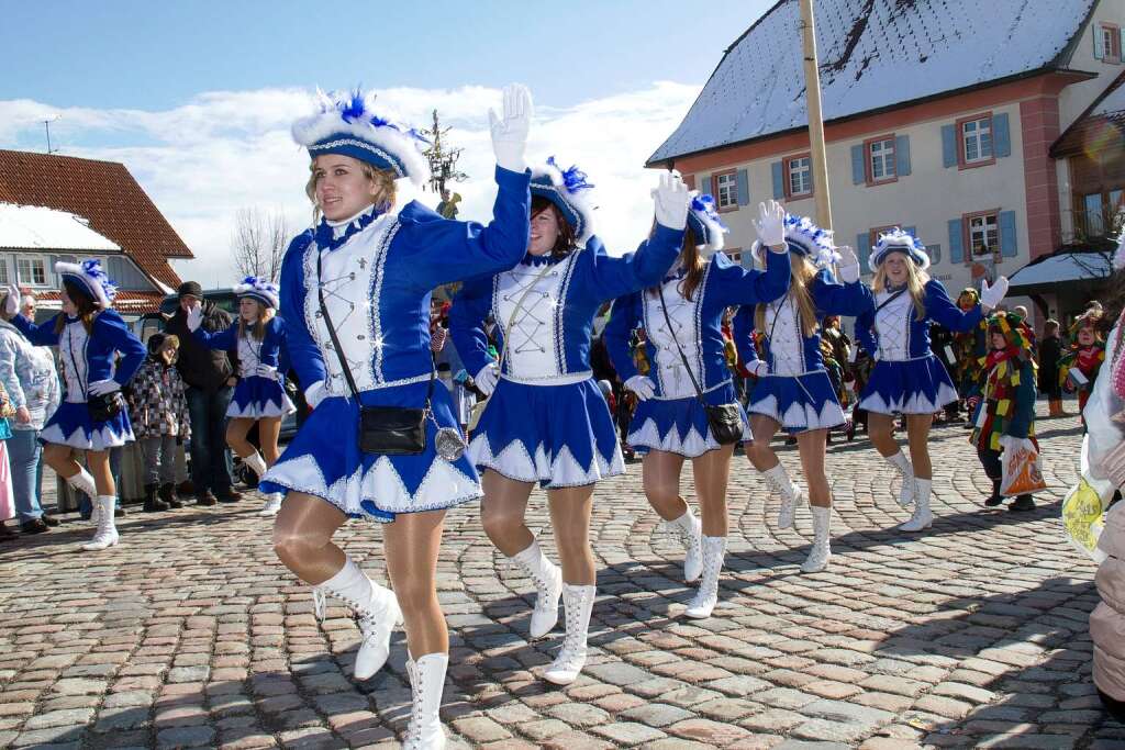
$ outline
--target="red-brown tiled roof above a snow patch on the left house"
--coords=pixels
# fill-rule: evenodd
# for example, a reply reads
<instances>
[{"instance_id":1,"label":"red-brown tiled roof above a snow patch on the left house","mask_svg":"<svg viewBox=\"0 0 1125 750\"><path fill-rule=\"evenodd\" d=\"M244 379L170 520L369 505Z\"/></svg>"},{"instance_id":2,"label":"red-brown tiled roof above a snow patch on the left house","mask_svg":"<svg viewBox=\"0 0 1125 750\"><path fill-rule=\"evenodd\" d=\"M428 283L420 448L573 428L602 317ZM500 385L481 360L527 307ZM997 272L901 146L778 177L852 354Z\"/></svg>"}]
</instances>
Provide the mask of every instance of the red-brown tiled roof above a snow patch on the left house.
<instances>
[{"instance_id":1,"label":"red-brown tiled roof above a snow patch on the left house","mask_svg":"<svg viewBox=\"0 0 1125 750\"><path fill-rule=\"evenodd\" d=\"M0 202L78 214L141 270L177 287L170 257L195 257L124 164L0 150Z\"/></svg>"}]
</instances>

